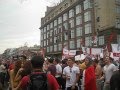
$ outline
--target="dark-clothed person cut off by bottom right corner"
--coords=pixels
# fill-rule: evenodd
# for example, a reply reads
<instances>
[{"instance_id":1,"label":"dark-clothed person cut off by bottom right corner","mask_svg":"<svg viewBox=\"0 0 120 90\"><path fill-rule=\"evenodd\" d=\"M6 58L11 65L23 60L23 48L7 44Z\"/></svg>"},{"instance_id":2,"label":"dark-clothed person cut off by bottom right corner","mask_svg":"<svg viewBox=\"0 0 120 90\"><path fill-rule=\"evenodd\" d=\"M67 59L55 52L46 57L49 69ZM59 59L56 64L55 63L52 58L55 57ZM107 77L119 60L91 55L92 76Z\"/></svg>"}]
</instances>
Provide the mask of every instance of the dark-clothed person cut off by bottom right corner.
<instances>
[{"instance_id":1,"label":"dark-clothed person cut off by bottom right corner","mask_svg":"<svg viewBox=\"0 0 120 90\"><path fill-rule=\"evenodd\" d=\"M120 65L110 79L110 90L120 90Z\"/></svg>"}]
</instances>

